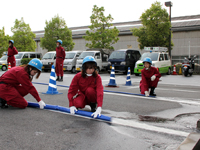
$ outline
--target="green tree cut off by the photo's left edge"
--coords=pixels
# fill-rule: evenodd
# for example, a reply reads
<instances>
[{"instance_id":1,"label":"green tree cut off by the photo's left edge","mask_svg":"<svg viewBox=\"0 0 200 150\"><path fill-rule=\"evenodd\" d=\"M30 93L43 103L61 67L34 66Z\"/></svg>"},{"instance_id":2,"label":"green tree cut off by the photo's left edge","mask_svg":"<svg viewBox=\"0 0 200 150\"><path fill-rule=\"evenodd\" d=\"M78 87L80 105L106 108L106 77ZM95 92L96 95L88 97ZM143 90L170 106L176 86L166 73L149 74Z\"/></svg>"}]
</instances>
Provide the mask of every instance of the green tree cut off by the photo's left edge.
<instances>
[{"instance_id":1,"label":"green tree cut off by the photo's left edge","mask_svg":"<svg viewBox=\"0 0 200 150\"><path fill-rule=\"evenodd\" d=\"M0 29L0 56L2 53L8 50L8 41L10 40L9 35L5 35L4 27Z\"/></svg>"}]
</instances>

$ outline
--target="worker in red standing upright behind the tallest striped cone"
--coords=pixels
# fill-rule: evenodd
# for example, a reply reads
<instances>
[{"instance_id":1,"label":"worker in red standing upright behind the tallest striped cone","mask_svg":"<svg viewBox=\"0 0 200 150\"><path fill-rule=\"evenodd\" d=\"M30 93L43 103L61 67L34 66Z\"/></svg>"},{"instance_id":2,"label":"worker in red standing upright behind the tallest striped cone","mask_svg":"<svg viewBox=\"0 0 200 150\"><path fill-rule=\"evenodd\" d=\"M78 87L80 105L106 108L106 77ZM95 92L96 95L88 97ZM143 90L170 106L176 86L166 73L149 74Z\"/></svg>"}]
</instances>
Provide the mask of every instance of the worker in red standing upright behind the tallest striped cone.
<instances>
[{"instance_id":1,"label":"worker in red standing upright behind the tallest striped cone","mask_svg":"<svg viewBox=\"0 0 200 150\"><path fill-rule=\"evenodd\" d=\"M56 81L63 81L63 62L65 60L65 49L61 46L62 40L57 40L56 47ZM60 78L59 78L60 76Z\"/></svg>"}]
</instances>

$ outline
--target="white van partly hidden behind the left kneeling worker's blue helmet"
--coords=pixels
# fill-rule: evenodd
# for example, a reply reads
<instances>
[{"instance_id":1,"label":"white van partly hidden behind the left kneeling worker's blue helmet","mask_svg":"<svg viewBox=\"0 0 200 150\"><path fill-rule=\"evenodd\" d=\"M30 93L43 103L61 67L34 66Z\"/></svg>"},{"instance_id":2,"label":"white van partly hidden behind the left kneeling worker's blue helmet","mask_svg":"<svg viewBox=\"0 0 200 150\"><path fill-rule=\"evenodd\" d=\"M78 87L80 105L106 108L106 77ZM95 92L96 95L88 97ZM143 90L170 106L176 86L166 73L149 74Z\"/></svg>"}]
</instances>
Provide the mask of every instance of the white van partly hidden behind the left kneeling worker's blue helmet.
<instances>
[{"instance_id":1,"label":"white van partly hidden behind the left kneeling worker's blue helmet","mask_svg":"<svg viewBox=\"0 0 200 150\"><path fill-rule=\"evenodd\" d=\"M15 56L15 60L16 60L16 66L20 66L21 60L23 58L38 58L38 59L41 59L42 53L38 53L38 52L18 52L18 54L14 55L14 56Z\"/></svg>"}]
</instances>

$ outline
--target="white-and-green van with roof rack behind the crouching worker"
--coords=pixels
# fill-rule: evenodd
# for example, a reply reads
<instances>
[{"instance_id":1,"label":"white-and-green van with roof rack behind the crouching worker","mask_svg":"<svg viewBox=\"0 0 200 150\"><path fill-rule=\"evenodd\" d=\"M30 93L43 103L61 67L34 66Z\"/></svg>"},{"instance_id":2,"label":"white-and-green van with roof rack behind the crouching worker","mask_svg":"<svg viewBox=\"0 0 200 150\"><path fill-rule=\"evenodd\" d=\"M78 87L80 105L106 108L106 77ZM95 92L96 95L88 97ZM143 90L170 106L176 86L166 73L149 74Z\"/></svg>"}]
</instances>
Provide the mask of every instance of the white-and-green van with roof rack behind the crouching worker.
<instances>
[{"instance_id":1,"label":"white-and-green van with roof rack behind the crouching worker","mask_svg":"<svg viewBox=\"0 0 200 150\"><path fill-rule=\"evenodd\" d=\"M156 67L160 73L171 74L171 60L165 47L145 47L148 51L142 54L140 60L135 63L134 74L138 76L144 68L143 60L151 58L152 66Z\"/></svg>"}]
</instances>

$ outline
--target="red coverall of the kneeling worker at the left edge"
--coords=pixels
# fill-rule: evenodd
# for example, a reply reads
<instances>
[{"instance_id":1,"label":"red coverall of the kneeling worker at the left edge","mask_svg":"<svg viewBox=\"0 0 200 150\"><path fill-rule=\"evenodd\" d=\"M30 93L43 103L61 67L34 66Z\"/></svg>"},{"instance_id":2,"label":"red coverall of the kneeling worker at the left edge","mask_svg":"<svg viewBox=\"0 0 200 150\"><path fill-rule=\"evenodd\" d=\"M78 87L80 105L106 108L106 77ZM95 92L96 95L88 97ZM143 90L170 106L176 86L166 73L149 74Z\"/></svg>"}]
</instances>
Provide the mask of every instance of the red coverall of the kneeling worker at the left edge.
<instances>
[{"instance_id":1,"label":"red coverall of the kneeling worker at the left edge","mask_svg":"<svg viewBox=\"0 0 200 150\"><path fill-rule=\"evenodd\" d=\"M41 100L24 67L14 67L0 77L0 98L8 105L26 108L28 103L23 97L28 93L38 102Z\"/></svg>"}]
</instances>

